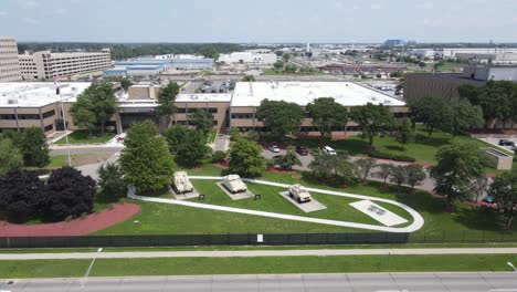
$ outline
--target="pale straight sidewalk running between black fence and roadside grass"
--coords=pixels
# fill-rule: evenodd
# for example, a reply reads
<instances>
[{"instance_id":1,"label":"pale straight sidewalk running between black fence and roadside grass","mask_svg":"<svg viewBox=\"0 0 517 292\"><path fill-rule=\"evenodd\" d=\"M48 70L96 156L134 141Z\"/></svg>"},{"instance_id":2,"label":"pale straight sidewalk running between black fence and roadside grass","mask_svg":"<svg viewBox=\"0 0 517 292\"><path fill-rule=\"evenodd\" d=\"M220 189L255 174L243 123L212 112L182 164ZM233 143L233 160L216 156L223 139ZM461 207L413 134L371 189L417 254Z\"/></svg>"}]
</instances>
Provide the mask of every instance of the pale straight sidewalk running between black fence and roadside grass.
<instances>
[{"instance_id":1,"label":"pale straight sidewalk running between black fence and roadside grass","mask_svg":"<svg viewBox=\"0 0 517 292\"><path fill-rule=\"evenodd\" d=\"M0 260L68 260L127 258L256 258L256 257L339 257L415 254L515 254L517 248L443 249L315 249L315 250L225 250L225 251L120 251L66 253L3 253Z\"/></svg>"}]
</instances>

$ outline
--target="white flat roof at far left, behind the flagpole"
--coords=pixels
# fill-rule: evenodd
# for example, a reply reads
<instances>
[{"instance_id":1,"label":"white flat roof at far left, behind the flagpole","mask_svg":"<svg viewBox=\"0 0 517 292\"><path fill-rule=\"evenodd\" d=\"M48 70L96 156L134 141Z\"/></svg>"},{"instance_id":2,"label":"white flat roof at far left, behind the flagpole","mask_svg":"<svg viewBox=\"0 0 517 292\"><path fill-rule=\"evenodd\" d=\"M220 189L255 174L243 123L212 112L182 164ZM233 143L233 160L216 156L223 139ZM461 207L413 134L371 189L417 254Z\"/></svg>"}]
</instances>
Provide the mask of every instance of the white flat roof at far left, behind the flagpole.
<instances>
[{"instance_id":1,"label":"white flat roof at far left, behind the flagpole","mask_svg":"<svg viewBox=\"0 0 517 292\"><path fill-rule=\"evenodd\" d=\"M62 82L63 101L75 102L89 82ZM0 107L41 107L60 101L53 82L0 83Z\"/></svg>"}]
</instances>

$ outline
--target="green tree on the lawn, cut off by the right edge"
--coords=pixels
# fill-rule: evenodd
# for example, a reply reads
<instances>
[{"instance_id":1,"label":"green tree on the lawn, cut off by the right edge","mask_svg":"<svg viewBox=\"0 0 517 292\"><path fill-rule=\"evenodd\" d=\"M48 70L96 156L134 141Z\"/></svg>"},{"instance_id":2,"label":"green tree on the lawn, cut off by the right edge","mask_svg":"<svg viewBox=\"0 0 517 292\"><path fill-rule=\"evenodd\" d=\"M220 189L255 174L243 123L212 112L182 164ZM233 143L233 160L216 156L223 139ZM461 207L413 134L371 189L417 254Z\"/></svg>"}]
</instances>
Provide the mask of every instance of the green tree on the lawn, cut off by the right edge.
<instances>
[{"instance_id":1,"label":"green tree on the lawn, cut off by the right edge","mask_svg":"<svg viewBox=\"0 0 517 292\"><path fill-rule=\"evenodd\" d=\"M503 215L506 229L511 229L511 221L517 213L517 175L506 171L496 176L489 194L494 197L497 210Z\"/></svg>"}]
</instances>

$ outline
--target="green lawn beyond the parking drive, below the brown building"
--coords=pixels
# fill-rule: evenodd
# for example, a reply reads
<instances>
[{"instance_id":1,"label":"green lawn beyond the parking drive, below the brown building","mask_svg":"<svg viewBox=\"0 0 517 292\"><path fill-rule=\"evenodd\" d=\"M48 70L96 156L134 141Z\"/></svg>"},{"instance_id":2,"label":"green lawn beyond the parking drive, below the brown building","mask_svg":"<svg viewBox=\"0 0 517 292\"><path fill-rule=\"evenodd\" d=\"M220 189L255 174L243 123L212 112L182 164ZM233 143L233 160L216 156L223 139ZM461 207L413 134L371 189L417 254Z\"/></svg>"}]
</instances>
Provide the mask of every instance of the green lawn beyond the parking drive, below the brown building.
<instances>
[{"instance_id":1,"label":"green lawn beyond the parking drive, below the brown building","mask_svg":"<svg viewBox=\"0 0 517 292\"><path fill-rule=\"evenodd\" d=\"M411 156L420 163L435 164L435 155L437 153L439 147L450 144L452 138L453 137L450 134L443 132L435 132L430 138L428 138L428 135L425 134L423 127L419 125L416 127L413 139L410 144L405 145L405 149L402 146L402 144L397 142L395 137L390 136L376 137L373 140L373 147L376 148L376 150L381 153ZM472 142L479 145L479 147L493 147L493 145L488 143L468 136L456 136L454 139L458 142ZM325 142L317 138L302 138L294 139L292 140L292 143L294 145L303 145L309 147L314 150L318 150L318 148L320 148L324 145L329 145L338 152L346 152L352 156L368 154L368 143L366 140L362 140L359 135L352 135L347 139L331 142Z\"/></svg>"}]
</instances>

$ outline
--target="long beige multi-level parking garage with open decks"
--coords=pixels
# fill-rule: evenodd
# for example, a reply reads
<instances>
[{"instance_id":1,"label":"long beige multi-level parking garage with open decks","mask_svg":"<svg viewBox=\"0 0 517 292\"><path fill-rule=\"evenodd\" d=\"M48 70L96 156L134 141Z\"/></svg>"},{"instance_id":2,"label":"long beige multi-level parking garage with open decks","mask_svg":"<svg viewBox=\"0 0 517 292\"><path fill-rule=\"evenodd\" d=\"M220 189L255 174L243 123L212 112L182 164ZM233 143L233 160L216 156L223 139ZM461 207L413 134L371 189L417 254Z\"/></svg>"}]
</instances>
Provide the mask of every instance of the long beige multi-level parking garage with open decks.
<instances>
[{"instance_id":1,"label":"long beige multi-level parking garage with open decks","mask_svg":"<svg viewBox=\"0 0 517 292\"><path fill-rule=\"evenodd\" d=\"M24 80L52 80L55 76L103 71L112 65L109 49L102 52L52 53L40 51L19 56Z\"/></svg>"}]
</instances>

